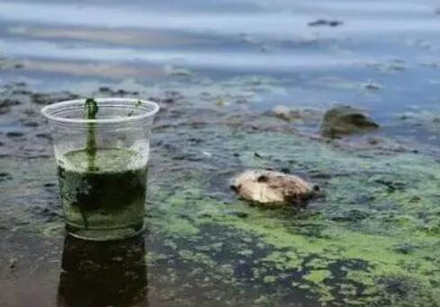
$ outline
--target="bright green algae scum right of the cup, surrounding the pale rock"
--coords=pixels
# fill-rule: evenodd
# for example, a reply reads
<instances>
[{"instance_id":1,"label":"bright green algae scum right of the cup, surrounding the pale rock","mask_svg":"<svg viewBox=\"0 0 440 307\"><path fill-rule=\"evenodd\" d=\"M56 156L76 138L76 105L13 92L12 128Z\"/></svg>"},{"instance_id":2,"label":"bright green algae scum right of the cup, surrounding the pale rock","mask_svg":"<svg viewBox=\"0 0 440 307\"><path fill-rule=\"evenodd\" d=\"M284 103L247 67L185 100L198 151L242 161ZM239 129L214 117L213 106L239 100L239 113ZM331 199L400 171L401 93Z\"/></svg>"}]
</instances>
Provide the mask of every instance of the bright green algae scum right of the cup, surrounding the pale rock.
<instances>
[{"instance_id":1,"label":"bright green algae scum right of the cup, surrounding the pale rock","mask_svg":"<svg viewBox=\"0 0 440 307\"><path fill-rule=\"evenodd\" d=\"M289 165L316 174L327 196L296 214L225 201L227 192L222 197L205 179L209 171L198 171L212 163L207 159L187 162L191 167L173 186L177 192L167 191L169 180L156 179L151 199L162 205L152 213L150 228L165 232L166 244L180 258L198 264L194 270L202 266L209 278L261 291L242 294L256 305L437 305L440 181L433 159L373 150L345 153L282 132L202 130L215 140L203 138L212 151L220 149L214 142L223 141L229 148L224 156L241 153L236 162L217 162L223 170ZM270 148L265 159L253 151L262 140ZM173 258L155 257L157 263Z\"/></svg>"}]
</instances>

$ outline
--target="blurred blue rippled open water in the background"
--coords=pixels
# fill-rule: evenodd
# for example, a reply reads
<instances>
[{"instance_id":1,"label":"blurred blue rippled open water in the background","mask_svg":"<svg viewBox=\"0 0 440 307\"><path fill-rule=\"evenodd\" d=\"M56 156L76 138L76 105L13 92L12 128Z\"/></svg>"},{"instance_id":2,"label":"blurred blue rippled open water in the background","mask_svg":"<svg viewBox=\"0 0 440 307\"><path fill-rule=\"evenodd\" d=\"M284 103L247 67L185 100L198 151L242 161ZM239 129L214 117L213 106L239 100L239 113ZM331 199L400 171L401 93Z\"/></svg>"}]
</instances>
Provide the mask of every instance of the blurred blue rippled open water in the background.
<instances>
[{"instance_id":1,"label":"blurred blue rippled open water in the background","mask_svg":"<svg viewBox=\"0 0 440 307\"><path fill-rule=\"evenodd\" d=\"M238 85L263 84L267 91L249 99L257 110L346 103L370 110L385 126L393 122L385 131L437 144L436 135L394 121L406 112L438 111L439 6L436 0L0 1L0 82L85 92L120 83L246 93Z\"/></svg>"}]
</instances>

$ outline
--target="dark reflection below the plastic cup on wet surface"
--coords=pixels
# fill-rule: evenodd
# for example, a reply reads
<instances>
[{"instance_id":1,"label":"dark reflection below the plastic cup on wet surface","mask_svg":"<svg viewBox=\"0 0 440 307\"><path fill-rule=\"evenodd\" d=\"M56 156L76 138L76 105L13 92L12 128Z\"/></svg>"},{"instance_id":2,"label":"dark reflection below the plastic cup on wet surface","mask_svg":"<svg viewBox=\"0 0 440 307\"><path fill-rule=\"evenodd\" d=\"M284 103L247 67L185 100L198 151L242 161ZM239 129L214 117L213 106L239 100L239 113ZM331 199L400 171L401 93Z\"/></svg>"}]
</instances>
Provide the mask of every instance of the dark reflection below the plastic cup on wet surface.
<instances>
[{"instance_id":1,"label":"dark reflection below the plastic cup on wet surface","mask_svg":"<svg viewBox=\"0 0 440 307\"><path fill-rule=\"evenodd\" d=\"M145 241L84 241L67 235L59 307L148 306Z\"/></svg>"}]
</instances>

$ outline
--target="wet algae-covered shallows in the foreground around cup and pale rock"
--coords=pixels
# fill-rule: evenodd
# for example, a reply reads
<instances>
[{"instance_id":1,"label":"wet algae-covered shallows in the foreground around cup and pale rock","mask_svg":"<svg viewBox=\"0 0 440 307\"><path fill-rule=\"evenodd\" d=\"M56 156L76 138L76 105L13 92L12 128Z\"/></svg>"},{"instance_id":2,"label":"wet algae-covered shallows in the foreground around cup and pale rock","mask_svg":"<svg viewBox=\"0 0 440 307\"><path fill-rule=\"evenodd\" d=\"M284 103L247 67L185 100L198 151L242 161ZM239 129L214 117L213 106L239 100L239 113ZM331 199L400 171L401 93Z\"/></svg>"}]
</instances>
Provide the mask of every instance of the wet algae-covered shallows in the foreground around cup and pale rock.
<instances>
[{"instance_id":1,"label":"wet algae-covered shallows in the foreground around cup and pale rock","mask_svg":"<svg viewBox=\"0 0 440 307\"><path fill-rule=\"evenodd\" d=\"M332 141L240 103L208 108L167 92L151 97L162 110L145 241L100 246L64 236L38 114L76 94L11 84L3 97L15 103L2 117L19 123L0 136L4 306L438 304L436 153L380 135ZM324 197L302 210L250 206L229 189L247 168L301 174Z\"/></svg>"}]
</instances>

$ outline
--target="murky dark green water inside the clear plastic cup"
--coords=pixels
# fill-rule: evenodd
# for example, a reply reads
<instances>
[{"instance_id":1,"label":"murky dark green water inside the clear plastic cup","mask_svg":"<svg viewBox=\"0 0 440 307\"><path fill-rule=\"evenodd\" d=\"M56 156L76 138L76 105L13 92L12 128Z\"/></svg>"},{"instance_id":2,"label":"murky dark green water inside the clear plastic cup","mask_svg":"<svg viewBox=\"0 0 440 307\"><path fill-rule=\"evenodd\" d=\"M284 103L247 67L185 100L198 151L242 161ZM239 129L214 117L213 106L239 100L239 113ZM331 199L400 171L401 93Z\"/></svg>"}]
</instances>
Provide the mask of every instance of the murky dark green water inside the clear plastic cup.
<instances>
[{"instance_id":1,"label":"murky dark green water inside the clear plastic cup","mask_svg":"<svg viewBox=\"0 0 440 307\"><path fill-rule=\"evenodd\" d=\"M94 153L90 169L88 149L65 153L58 164L58 180L66 222L75 232L143 227L147 167L134 151L107 148Z\"/></svg>"}]
</instances>

